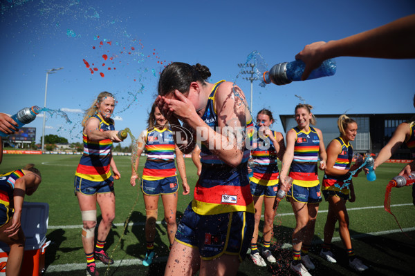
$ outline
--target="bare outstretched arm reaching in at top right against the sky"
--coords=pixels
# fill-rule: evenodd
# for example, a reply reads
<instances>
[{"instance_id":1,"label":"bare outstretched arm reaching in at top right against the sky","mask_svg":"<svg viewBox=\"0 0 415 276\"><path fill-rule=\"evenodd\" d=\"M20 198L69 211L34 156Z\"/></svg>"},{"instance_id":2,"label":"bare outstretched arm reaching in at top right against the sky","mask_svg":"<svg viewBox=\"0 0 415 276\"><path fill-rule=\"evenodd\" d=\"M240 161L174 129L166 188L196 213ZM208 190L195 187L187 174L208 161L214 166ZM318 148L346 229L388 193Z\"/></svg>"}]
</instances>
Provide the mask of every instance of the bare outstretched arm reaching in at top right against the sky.
<instances>
[{"instance_id":1,"label":"bare outstretched arm reaching in at top right against the sky","mask_svg":"<svg viewBox=\"0 0 415 276\"><path fill-rule=\"evenodd\" d=\"M339 40L306 45L295 59L306 63L302 80L326 60L334 57L415 58L415 14Z\"/></svg>"}]
</instances>

